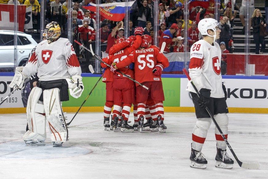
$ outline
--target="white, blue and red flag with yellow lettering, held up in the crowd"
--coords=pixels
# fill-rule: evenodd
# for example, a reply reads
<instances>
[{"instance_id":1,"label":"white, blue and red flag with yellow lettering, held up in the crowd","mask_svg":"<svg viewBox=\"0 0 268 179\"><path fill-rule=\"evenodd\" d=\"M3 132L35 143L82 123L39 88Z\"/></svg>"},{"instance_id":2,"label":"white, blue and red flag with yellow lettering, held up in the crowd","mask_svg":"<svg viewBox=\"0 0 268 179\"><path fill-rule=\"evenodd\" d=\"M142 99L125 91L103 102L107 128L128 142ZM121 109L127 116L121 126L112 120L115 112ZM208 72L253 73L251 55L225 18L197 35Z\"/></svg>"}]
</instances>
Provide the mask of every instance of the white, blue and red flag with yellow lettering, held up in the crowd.
<instances>
[{"instance_id":1,"label":"white, blue and red flag with yellow lettering, held up in the crowd","mask_svg":"<svg viewBox=\"0 0 268 179\"><path fill-rule=\"evenodd\" d=\"M113 3L105 3L100 4L99 10L104 18L107 18L112 21L122 21L125 18L125 11L126 7L130 9L133 5L134 1L132 2L113 2ZM85 9L96 12L96 4L89 3L87 6L83 6Z\"/></svg>"}]
</instances>

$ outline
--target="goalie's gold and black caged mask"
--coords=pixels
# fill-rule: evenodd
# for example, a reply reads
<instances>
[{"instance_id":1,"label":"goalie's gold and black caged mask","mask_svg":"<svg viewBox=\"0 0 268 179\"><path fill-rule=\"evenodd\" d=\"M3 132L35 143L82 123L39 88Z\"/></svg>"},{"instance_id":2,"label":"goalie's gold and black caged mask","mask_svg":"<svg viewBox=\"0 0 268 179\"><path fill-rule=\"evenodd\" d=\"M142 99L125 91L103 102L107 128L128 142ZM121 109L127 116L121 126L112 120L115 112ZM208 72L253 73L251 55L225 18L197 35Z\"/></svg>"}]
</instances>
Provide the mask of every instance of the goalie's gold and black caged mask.
<instances>
[{"instance_id":1,"label":"goalie's gold and black caged mask","mask_svg":"<svg viewBox=\"0 0 268 179\"><path fill-rule=\"evenodd\" d=\"M50 22L43 33L43 36L47 38L48 43L56 41L60 37L60 25L57 22Z\"/></svg>"}]
</instances>

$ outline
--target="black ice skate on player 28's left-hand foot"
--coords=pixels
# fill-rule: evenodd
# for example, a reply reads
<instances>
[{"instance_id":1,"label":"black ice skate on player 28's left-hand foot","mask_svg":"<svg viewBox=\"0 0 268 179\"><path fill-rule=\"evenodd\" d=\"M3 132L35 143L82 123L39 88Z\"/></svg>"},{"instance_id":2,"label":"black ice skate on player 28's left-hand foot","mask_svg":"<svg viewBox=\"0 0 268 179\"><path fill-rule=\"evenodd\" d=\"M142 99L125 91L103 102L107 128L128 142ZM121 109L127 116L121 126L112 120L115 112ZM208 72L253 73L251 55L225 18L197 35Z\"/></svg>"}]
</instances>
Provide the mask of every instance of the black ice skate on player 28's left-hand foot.
<instances>
[{"instance_id":1,"label":"black ice skate on player 28's left-hand foot","mask_svg":"<svg viewBox=\"0 0 268 179\"><path fill-rule=\"evenodd\" d=\"M192 149L191 156L190 156L190 167L198 168L198 169L205 169L207 168L208 161L202 152L196 151Z\"/></svg>"}]
</instances>

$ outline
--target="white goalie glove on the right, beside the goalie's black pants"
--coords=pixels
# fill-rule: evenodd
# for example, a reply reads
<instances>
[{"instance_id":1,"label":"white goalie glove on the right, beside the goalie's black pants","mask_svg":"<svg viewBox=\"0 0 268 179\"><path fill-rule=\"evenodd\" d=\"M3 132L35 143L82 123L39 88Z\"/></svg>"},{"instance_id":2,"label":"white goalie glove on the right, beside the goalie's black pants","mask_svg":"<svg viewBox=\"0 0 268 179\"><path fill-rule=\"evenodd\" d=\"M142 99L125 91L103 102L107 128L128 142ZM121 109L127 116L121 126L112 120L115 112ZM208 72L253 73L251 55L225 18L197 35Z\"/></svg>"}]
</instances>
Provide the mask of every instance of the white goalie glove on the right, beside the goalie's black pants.
<instances>
[{"instance_id":1,"label":"white goalie glove on the right, beside the goalie's black pants","mask_svg":"<svg viewBox=\"0 0 268 179\"><path fill-rule=\"evenodd\" d=\"M66 78L66 81L68 82L70 95L74 98L79 98L84 91L82 77L79 75L73 75L72 79Z\"/></svg>"}]
</instances>

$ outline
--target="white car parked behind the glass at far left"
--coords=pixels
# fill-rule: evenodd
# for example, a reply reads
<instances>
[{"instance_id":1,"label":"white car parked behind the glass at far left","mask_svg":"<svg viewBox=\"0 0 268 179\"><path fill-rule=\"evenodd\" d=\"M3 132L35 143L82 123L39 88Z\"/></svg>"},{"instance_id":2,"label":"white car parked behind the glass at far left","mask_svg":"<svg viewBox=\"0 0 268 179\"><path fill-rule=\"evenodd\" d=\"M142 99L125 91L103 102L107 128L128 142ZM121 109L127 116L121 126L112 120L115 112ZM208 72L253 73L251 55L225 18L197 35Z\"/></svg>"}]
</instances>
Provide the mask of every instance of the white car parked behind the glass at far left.
<instances>
[{"instance_id":1,"label":"white car parked behind the glass at far left","mask_svg":"<svg viewBox=\"0 0 268 179\"><path fill-rule=\"evenodd\" d=\"M0 30L0 68L13 71L14 69L14 31ZM37 46L31 35L17 31L17 66L25 66L29 53Z\"/></svg>"}]
</instances>

